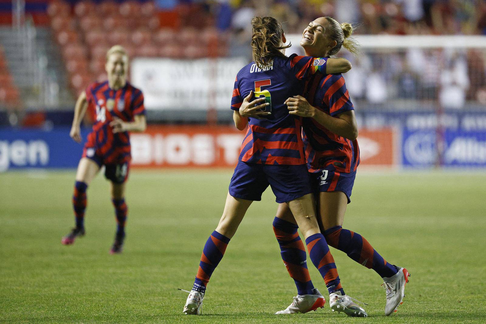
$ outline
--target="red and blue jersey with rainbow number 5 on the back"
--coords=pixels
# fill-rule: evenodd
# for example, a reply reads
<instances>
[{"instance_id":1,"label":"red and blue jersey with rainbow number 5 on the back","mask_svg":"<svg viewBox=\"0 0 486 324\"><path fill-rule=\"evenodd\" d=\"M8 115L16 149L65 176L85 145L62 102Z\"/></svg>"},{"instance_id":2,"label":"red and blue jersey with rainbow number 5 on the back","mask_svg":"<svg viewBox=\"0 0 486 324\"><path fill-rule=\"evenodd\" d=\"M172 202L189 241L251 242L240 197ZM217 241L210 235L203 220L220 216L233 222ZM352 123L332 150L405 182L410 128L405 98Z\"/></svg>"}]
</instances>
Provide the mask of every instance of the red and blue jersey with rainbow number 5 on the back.
<instances>
[{"instance_id":1,"label":"red and blue jersey with rainbow number 5 on the back","mask_svg":"<svg viewBox=\"0 0 486 324\"><path fill-rule=\"evenodd\" d=\"M261 119L248 118L240 161L258 164L305 164L301 137L301 118L290 115L287 98L302 95L305 80L315 73L326 73L327 59L309 56L275 57L268 68L260 69L255 62L237 74L231 109L239 110L243 98L254 91L255 100L265 97L272 114Z\"/></svg>"}]
</instances>

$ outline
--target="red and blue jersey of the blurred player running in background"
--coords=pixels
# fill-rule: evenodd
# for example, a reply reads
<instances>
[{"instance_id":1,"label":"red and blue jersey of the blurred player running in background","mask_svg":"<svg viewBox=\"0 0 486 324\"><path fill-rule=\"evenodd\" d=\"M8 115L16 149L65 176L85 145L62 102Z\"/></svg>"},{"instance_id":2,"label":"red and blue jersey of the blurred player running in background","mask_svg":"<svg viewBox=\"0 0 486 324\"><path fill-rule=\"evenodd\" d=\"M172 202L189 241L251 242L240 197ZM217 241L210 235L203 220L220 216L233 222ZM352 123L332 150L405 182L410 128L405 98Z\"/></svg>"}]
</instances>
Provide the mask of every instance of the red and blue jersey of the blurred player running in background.
<instances>
[{"instance_id":1,"label":"red and blue jersey of the blurred player running in background","mask_svg":"<svg viewBox=\"0 0 486 324\"><path fill-rule=\"evenodd\" d=\"M113 133L109 123L114 118L133 121L134 116L144 115L142 92L131 85L118 90L110 88L108 81L94 83L86 89L87 111L93 117L93 131L87 136L87 147L96 149L106 163L131 160L128 132Z\"/></svg>"}]
</instances>

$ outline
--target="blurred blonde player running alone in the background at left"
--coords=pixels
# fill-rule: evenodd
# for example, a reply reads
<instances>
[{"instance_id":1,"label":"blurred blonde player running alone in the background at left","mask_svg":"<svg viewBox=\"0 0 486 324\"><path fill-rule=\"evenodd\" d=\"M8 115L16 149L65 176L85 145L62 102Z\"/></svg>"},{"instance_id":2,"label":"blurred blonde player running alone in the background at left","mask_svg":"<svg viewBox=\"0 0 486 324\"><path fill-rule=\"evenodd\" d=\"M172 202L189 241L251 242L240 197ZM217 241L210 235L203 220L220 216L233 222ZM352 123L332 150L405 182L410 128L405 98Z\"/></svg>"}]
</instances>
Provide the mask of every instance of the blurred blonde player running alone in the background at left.
<instances>
[{"instance_id":1,"label":"blurred blonde player running alone in the background at left","mask_svg":"<svg viewBox=\"0 0 486 324\"><path fill-rule=\"evenodd\" d=\"M105 68L108 80L88 86L76 102L70 132L76 142L81 142L79 126L86 111L96 120L93 131L87 136L76 173L72 197L76 226L61 242L69 245L76 237L85 234L86 189L100 168L105 166L104 176L111 182L112 203L118 223L110 252L121 253L127 217L125 181L131 160L128 132L145 130L145 108L142 92L126 81L128 55L121 46L115 45L108 50Z\"/></svg>"}]
</instances>

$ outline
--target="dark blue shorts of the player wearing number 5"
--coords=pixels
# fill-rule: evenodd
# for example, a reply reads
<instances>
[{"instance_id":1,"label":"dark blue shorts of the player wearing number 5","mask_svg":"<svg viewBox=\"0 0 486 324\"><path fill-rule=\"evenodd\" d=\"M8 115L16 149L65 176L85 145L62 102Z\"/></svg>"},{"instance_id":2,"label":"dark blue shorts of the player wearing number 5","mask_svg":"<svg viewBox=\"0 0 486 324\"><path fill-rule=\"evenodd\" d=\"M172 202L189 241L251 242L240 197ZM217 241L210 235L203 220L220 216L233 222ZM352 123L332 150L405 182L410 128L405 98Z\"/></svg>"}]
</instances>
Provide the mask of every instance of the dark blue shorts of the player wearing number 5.
<instances>
[{"instance_id":1,"label":"dark blue shorts of the player wearing number 5","mask_svg":"<svg viewBox=\"0 0 486 324\"><path fill-rule=\"evenodd\" d=\"M256 164L238 161L229 183L229 194L235 198L260 201L268 186L277 203L286 203L312 193L309 171L305 164Z\"/></svg>"}]
</instances>

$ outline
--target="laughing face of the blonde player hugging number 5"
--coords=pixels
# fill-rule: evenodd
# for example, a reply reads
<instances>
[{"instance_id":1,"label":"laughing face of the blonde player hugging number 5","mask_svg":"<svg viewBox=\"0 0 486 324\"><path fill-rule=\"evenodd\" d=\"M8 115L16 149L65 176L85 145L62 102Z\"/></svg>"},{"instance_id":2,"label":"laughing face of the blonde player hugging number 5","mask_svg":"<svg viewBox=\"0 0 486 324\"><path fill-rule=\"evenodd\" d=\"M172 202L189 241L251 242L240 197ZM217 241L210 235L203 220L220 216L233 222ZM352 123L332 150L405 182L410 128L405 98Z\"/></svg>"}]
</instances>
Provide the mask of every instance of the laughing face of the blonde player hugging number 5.
<instances>
[{"instance_id":1,"label":"laughing face of the blonde player hugging number 5","mask_svg":"<svg viewBox=\"0 0 486 324\"><path fill-rule=\"evenodd\" d=\"M336 46L336 41L330 39L328 31L330 25L325 17L320 17L311 21L309 26L302 33L302 46L308 56L324 57L328 55L330 49Z\"/></svg>"}]
</instances>

